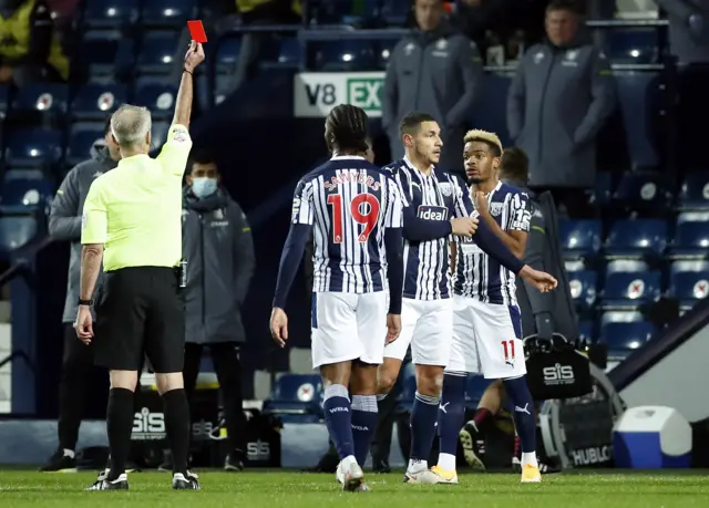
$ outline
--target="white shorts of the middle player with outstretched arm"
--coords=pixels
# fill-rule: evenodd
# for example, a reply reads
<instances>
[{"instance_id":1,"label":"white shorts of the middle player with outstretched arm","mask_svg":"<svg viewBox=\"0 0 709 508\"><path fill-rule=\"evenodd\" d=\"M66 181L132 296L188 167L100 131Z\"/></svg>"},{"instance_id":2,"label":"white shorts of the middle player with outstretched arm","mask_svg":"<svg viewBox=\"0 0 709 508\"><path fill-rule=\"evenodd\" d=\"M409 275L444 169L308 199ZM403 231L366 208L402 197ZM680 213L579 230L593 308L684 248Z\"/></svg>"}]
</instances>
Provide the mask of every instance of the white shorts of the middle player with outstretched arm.
<instances>
[{"instance_id":1,"label":"white shorts of the middle player with outstretched arm","mask_svg":"<svg viewBox=\"0 0 709 508\"><path fill-rule=\"evenodd\" d=\"M448 364L453 335L453 311L450 298L414 300L404 298L401 305L401 334L387 344L386 357L403 360L411 344L414 365Z\"/></svg>"}]
</instances>

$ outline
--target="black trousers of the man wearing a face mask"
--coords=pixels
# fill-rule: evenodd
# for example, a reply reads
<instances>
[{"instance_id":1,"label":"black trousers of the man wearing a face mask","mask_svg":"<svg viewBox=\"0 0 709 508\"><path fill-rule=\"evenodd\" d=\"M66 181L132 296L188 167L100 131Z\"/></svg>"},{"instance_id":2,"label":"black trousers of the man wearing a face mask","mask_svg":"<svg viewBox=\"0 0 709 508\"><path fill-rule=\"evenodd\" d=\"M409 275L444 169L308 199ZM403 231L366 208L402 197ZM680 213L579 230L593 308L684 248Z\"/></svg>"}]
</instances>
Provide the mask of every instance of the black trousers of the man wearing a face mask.
<instances>
[{"instance_id":1,"label":"black trousers of the man wearing a face mask","mask_svg":"<svg viewBox=\"0 0 709 508\"><path fill-rule=\"evenodd\" d=\"M244 454L246 437L246 418L244 416L244 398L242 395L242 364L239 362L239 346L235 342L218 342L214 344L185 344L185 367L183 376L185 391L191 397L194 393L199 374L199 362L203 349L209 348L214 370L219 381L222 398L224 400L224 419L229 436L229 449L237 455Z\"/></svg>"}]
</instances>

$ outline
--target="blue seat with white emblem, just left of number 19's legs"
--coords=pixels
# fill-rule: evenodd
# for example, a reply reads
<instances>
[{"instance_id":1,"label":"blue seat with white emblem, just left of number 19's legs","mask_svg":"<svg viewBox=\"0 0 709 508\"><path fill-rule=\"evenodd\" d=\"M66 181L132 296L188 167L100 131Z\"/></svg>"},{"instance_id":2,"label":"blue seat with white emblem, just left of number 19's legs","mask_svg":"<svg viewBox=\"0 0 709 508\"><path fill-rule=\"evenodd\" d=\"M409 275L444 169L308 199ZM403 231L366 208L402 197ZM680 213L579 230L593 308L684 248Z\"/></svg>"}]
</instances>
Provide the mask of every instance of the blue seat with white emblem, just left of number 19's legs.
<instances>
[{"instance_id":1,"label":"blue seat with white emblem, just left of number 19's legs","mask_svg":"<svg viewBox=\"0 0 709 508\"><path fill-rule=\"evenodd\" d=\"M322 416L322 393L317 374L281 374L264 401L263 412L284 422L315 423Z\"/></svg>"}]
</instances>

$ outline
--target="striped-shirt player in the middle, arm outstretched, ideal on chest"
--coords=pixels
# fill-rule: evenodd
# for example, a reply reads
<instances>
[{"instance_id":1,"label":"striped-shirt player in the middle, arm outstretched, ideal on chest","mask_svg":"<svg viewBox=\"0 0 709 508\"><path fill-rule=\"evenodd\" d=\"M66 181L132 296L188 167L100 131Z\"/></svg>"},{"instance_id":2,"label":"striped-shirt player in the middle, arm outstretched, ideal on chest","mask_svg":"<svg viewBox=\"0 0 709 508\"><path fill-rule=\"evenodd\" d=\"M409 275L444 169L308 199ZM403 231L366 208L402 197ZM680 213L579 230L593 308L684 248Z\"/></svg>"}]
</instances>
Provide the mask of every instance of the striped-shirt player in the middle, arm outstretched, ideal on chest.
<instances>
[{"instance_id":1,"label":"striped-shirt player in the middle, arm outstretched, ideal on chest","mask_svg":"<svg viewBox=\"0 0 709 508\"><path fill-rule=\"evenodd\" d=\"M435 422L453 334L450 294L449 240L451 235L471 238L475 245L512 272L520 272L544 290L556 286L547 273L524 266L492 232L476 224L473 203L460 179L435 167L441 129L425 113L410 113L400 125L405 157L387 166L399 183L403 199L405 273L402 330L387 345L379 370L380 400L391 390L411 344L417 369L417 394L411 413L411 454L404 481L445 481L428 468ZM471 217L473 216L473 217Z\"/></svg>"}]
</instances>

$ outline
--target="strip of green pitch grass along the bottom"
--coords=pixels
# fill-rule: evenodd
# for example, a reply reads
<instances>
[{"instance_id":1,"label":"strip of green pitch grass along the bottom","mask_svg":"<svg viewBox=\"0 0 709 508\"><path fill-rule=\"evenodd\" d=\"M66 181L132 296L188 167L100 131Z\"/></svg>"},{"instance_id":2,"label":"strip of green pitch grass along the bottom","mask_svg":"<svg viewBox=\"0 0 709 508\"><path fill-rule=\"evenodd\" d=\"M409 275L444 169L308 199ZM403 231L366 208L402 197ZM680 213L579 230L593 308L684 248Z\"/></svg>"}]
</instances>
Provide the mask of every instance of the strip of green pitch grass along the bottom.
<instances>
[{"instance_id":1,"label":"strip of green pitch grass along the bottom","mask_svg":"<svg viewBox=\"0 0 709 508\"><path fill-rule=\"evenodd\" d=\"M371 493L342 493L333 475L197 471L201 491L173 491L166 473L129 475L131 489L83 490L93 473L0 470L0 506L59 508L660 508L709 507L707 471L585 471L520 485L513 474L461 475L461 485L403 485L401 473L368 475Z\"/></svg>"}]
</instances>

